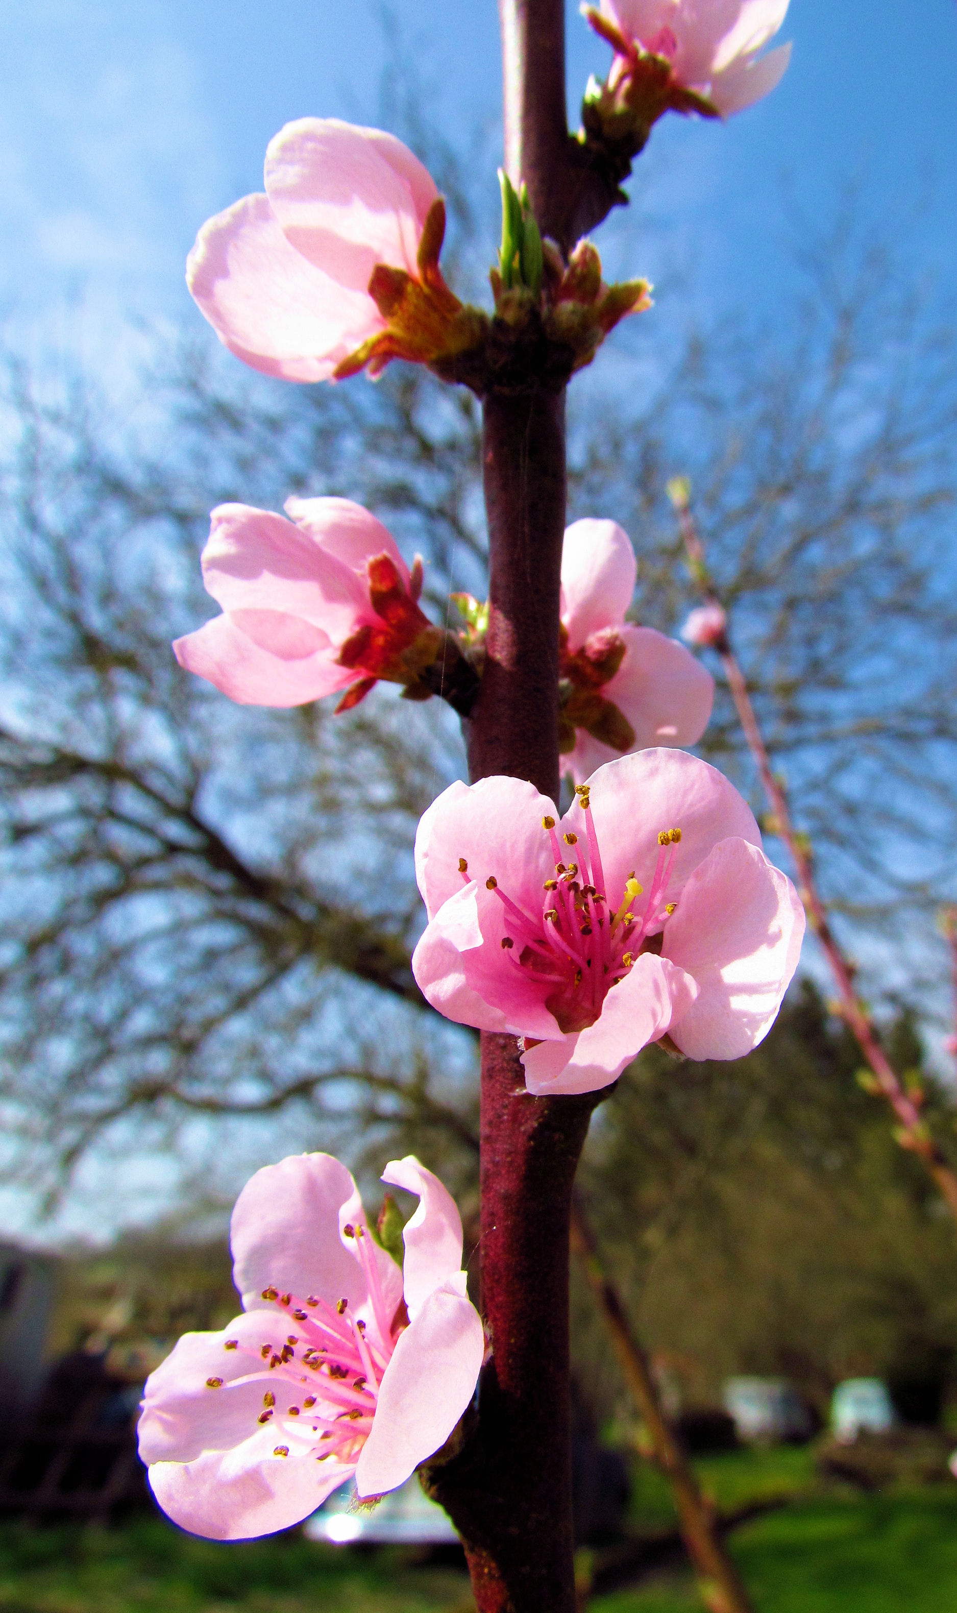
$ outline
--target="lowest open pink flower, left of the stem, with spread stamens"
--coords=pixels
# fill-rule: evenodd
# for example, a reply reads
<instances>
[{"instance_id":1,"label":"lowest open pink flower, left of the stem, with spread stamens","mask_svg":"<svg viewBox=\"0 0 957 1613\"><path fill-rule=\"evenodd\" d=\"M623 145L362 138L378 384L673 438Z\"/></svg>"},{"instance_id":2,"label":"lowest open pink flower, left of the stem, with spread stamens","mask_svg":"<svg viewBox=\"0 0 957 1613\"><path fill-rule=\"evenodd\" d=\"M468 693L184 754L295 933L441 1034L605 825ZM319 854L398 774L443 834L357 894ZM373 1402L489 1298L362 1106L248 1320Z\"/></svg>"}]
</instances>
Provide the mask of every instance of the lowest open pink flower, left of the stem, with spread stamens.
<instances>
[{"instance_id":1,"label":"lowest open pink flower, left of the stem, with spread stamens","mask_svg":"<svg viewBox=\"0 0 957 1613\"><path fill-rule=\"evenodd\" d=\"M268 1165L242 1189L232 1273L244 1315L184 1334L147 1379L139 1423L153 1495L192 1534L287 1529L352 1474L360 1495L392 1490L471 1400L484 1337L455 1203L412 1155L382 1181L420 1195L403 1268L328 1153Z\"/></svg>"}]
</instances>

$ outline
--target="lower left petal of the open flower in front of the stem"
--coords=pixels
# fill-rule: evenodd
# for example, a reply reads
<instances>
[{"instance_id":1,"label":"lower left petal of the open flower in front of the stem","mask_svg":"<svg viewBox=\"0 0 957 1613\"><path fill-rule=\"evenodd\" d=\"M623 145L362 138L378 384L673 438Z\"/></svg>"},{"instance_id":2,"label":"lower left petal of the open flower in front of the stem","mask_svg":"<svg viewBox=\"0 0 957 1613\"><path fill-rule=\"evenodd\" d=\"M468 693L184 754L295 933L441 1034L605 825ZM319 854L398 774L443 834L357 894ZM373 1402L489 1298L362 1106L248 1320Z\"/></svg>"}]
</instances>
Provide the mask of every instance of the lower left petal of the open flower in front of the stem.
<instances>
[{"instance_id":1,"label":"lower left petal of the open flower in front of the stem","mask_svg":"<svg viewBox=\"0 0 957 1613\"><path fill-rule=\"evenodd\" d=\"M502 950L505 924L495 897L478 890L474 881L463 886L429 919L412 955L412 973L433 1008L457 1024L558 1037L544 1005L552 987L536 984L528 969L508 961Z\"/></svg>"}]
</instances>

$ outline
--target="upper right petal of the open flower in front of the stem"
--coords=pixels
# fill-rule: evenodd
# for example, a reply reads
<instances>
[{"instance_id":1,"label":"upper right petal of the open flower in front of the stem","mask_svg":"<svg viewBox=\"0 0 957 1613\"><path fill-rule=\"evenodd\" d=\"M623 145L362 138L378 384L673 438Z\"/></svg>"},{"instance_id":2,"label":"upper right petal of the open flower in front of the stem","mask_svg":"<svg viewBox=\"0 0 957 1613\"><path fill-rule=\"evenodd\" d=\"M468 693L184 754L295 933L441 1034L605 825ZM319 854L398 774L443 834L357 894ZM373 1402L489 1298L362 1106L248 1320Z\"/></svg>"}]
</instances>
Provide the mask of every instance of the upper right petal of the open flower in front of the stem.
<instances>
[{"instance_id":1,"label":"upper right petal of the open flower in front of the stem","mask_svg":"<svg viewBox=\"0 0 957 1613\"><path fill-rule=\"evenodd\" d=\"M644 890L650 889L663 829L681 829L668 902L678 900L691 871L718 840L741 836L760 845L747 802L717 768L686 750L641 750L605 763L591 777L591 806L610 902L620 900L631 869ZM584 836L578 802L562 827L566 824Z\"/></svg>"}]
</instances>

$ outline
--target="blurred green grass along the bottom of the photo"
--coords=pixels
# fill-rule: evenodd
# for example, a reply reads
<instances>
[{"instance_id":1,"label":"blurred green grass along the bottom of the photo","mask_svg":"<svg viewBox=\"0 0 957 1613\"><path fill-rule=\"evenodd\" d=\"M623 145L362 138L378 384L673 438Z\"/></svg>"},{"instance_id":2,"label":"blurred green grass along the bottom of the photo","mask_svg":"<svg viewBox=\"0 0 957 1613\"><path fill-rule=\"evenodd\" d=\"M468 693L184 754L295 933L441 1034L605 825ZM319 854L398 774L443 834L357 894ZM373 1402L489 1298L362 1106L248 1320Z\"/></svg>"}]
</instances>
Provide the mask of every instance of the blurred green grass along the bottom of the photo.
<instances>
[{"instance_id":1,"label":"blurred green grass along the bottom of the photo","mask_svg":"<svg viewBox=\"0 0 957 1613\"><path fill-rule=\"evenodd\" d=\"M854 1495L813 1490L805 1452L700 1463L721 1505L791 1490L734 1534L758 1613L955 1613L957 1486ZM639 1507L647 1528L647 1511ZM667 1523L667 1516L658 1518ZM466 1613L468 1581L402 1550L357 1555L290 1532L244 1545L160 1518L118 1529L0 1526L0 1613ZM596 1597L589 1613L702 1613L691 1576Z\"/></svg>"}]
</instances>

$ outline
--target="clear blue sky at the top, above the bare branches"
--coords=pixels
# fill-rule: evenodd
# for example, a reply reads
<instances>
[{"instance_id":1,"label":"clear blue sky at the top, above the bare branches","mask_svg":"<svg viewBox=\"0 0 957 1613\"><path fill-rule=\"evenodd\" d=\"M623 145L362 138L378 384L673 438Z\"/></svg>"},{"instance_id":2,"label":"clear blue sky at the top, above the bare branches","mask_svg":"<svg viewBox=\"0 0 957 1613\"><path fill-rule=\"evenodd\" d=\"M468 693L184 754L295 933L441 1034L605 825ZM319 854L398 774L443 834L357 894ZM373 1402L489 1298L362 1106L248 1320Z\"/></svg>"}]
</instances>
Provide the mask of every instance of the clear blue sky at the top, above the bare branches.
<instances>
[{"instance_id":1,"label":"clear blue sky at the top, above the bare branches","mask_svg":"<svg viewBox=\"0 0 957 1613\"><path fill-rule=\"evenodd\" d=\"M494 0L397 0L392 15L447 132L466 135L483 121L494 131ZM773 311L794 216L826 218L849 179L862 181L873 219L889 216L894 234L905 232L921 266L952 273L957 5L913 0L905 35L902 15L891 0L792 0L781 35L794 40L792 65L767 102L723 129L658 124L639 161L642 213L623 250L662 300L679 260L691 271L679 295L691 286L708 311L742 302ZM371 0L3 8L8 339L79 348L108 369L127 324L195 318L199 327L182 284L195 229L261 185L266 142L289 118L374 118L387 37ZM587 73L607 61L568 5L573 118Z\"/></svg>"}]
</instances>

